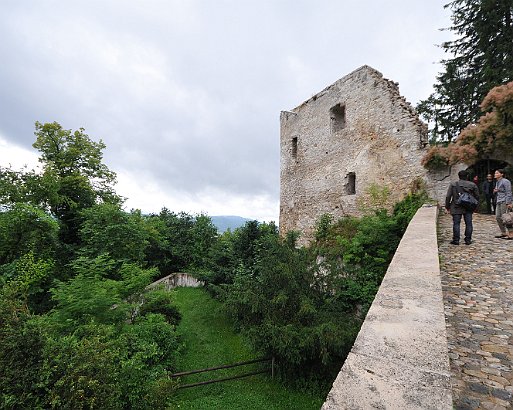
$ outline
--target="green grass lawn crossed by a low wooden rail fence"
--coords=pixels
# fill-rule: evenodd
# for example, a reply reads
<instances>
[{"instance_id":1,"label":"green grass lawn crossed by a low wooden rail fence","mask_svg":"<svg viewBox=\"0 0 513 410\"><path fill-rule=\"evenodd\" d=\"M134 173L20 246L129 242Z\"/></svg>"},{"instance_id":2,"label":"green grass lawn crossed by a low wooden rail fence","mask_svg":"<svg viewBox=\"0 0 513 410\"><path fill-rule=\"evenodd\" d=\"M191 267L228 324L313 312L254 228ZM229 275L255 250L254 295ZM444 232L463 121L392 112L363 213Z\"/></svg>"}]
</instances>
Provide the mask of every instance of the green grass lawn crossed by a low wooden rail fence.
<instances>
[{"instance_id":1,"label":"green grass lawn crossed by a low wooden rail fence","mask_svg":"<svg viewBox=\"0 0 513 410\"><path fill-rule=\"evenodd\" d=\"M182 320L178 331L184 349L178 371L231 364L261 356L236 334L222 305L201 288L178 288L173 298ZM230 377L262 369L253 364L183 377L182 383ZM285 387L269 374L178 390L172 408L177 409L319 409L324 397L318 393Z\"/></svg>"}]
</instances>

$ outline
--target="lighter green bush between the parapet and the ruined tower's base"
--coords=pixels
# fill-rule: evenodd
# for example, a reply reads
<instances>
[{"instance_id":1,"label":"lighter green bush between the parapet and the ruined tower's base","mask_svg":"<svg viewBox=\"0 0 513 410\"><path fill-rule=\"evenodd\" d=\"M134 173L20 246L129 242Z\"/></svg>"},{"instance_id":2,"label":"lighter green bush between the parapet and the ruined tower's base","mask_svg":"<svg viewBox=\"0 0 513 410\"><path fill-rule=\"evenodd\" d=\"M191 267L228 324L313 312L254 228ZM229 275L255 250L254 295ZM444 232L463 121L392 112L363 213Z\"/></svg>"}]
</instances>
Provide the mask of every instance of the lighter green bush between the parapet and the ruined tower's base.
<instances>
[{"instance_id":1,"label":"lighter green bush between the parapet and the ruined tower's base","mask_svg":"<svg viewBox=\"0 0 513 410\"><path fill-rule=\"evenodd\" d=\"M361 218L333 222L322 217L323 235L312 244L317 261L328 275L328 289L363 314L376 294L411 218L427 201L420 190L395 204L389 214L378 209ZM319 232L319 231L318 231Z\"/></svg>"}]
</instances>

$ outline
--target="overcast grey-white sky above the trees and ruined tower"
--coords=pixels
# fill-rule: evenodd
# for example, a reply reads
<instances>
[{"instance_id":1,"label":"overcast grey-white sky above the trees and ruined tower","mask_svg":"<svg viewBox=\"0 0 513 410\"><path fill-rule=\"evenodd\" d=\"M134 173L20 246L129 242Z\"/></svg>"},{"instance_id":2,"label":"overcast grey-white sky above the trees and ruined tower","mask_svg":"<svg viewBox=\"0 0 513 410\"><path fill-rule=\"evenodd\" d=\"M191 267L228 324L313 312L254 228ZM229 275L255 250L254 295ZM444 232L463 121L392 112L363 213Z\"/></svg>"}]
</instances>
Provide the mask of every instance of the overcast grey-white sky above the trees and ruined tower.
<instances>
[{"instance_id":1,"label":"overcast grey-white sky above the trees and ruined tower","mask_svg":"<svg viewBox=\"0 0 513 410\"><path fill-rule=\"evenodd\" d=\"M362 65L429 96L439 0L2 0L0 164L102 139L126 209L278 220L279 113Z\"/></svg>"}]
</instances>

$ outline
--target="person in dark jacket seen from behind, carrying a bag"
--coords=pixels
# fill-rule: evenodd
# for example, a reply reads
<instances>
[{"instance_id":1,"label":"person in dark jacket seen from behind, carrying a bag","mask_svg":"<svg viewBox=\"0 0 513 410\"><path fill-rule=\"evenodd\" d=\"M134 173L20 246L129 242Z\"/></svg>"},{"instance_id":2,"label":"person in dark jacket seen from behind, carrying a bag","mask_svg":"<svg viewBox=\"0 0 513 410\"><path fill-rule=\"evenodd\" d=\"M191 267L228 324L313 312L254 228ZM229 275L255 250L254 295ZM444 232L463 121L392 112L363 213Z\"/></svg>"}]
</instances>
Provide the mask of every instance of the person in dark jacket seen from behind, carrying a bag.
<instances>
[{"instance_id":1,"label":"person in dark jacket seen from behind, carrying a bag","mask_svg":"<svg viewBox=\"0 0 513 410\"><path fill-rule=\"evenodd\" d=\"M451 245L460 244L461 218L465 220L465 245L472 243L472 213L456 203L463 192L468 192L479 201L479 189L472 181L468 181L467 171L458 172L459 181L452 182L445 197L445 209L452 215L452 241Z\"/></svg>"}]
</instances>

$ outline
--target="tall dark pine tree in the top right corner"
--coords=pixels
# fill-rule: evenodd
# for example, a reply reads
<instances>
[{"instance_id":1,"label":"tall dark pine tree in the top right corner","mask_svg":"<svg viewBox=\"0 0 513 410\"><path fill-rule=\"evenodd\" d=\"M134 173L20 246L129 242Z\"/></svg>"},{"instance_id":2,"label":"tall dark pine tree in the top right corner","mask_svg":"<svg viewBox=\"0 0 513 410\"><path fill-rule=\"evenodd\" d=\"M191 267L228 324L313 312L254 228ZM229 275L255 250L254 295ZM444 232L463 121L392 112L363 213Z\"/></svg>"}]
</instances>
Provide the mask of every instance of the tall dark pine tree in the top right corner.
<instances>
[{"instance_id":1,"label":"tall dark pine tree in the top right corner","mask_svg":"<svg viewBox=\"0 0 513 410\"><path fill-rule=\"evenodd\" d=\"M432 126L431 140L454 140L482 115L479 103L495 86L513 80L513 0L453 0L455 39L441 47L435 92L417 110Z\"/></svg>"}]
</instances>

